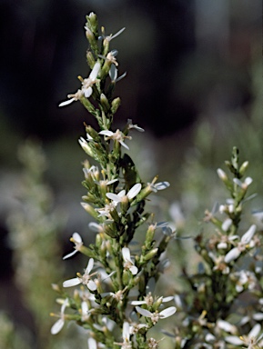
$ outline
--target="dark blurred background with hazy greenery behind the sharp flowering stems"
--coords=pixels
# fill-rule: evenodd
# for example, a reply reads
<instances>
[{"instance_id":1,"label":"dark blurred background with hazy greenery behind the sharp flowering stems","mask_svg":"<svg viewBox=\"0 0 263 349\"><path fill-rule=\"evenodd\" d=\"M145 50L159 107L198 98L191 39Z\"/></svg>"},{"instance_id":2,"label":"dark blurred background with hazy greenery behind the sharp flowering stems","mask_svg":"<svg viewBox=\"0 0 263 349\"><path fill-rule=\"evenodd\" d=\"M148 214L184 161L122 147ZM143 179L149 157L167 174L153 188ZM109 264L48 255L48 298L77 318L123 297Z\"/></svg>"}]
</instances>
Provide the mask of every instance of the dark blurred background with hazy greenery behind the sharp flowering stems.
<instances>
[{"instance_id":1,"label":"dark blurred background with hazy greenery behind the sharp flowering stems","mask_svg":"<svg viewBox=\"0 0 263 349\"><path fill-rule=\"evenodd\" d=\"M258 184L252 208L263 207L262 4L2 0L0 10L0 323L9 341L0 347L66 348L76 329L65 342L66 334L48 339L56 294L46 288L68 268L75 273L61 261L71 234L92 241L79 204L85 155L77 139L84 121L95 124L80 104L57 107L89 73L85 16L95 12L107 35L126 27L111 42L119 73L127 72L116 85L115 125L129 118L146 129L129 154L145 182L158 174L171 184L152 207L182 234L197 234L204 210L223 195L216 169L233 145Z\"/></svg>"}]
</instances>

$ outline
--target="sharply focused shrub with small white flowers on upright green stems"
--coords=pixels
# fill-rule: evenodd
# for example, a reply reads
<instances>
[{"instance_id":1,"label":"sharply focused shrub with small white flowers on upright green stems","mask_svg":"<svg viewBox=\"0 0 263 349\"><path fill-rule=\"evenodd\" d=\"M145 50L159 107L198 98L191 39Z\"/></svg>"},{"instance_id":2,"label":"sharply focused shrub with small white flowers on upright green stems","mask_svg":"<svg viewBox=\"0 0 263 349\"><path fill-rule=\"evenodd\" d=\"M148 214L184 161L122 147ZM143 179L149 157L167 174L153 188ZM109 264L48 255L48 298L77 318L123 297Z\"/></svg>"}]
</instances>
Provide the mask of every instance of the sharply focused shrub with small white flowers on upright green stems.
<instances>
[{"instance_id":1,"label":"sharply focused shrub with small white flowers on upright green stems","mask_svg":"<svg viewBox=\"0 0 263 349\"><path fill-rule=\"evenodd\" d=\"M120 105L115 86L126 74L117 77L117 51L110 50L110 45L124 29L106 35L102 28L99 35L96 15L91 13L85 30L90 74L79 76L80 88L60 106L79 101L96 118L98 129L85 125L86 138L79 139L89 156L83 169L87 193L82 206L95 221L89 229L96 232L96 239L89 246L81 234L74 233L70 239L74 251L64 259L79 252L86 255L87 264L84 272L82 265L62 287L54 285L61 310L53 314L58 320L51 333L57 334L67 320L73 320L86 329L91 349L157 348L158 341L149 331L177 312L172 317L174 334L164 331L174 338L175 348L260 347L263 284L257 226L244 223L247 226L240 236L243 205L252 198L247 197L252 179L244 179L248 162L239 165L234 148L231 161L226 162L230 175L217 170L229 198L206 212L205 221L215 225L215 233L192 237L199 263L193 274L182 270L188 287L170 296L153 296L152 285L167 266L163 253L177 235L168 223L155 222L146 202L150 194L169 184L157 183L157 176L145 183L124 153L129 150L130 133L144 132L141 127L128 120L122 130L112 129ZM136 242L138 228L145 232L141 244ZM157 230L162 232L158 242ZM76 287L73 293L71 287Z\"/></svg>"}]
</instances>

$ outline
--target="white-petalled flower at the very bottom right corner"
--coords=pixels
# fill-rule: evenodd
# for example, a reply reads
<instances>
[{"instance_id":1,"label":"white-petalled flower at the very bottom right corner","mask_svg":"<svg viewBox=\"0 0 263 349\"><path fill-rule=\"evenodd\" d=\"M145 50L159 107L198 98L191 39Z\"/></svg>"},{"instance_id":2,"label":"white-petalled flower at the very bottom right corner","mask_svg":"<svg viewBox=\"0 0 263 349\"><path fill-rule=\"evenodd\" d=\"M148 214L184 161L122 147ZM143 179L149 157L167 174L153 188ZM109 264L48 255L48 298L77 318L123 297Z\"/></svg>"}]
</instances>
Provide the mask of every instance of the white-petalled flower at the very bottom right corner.
<instances>
[{"instance_id":1,"label":"white-petalled flower at the very bottom right corner","mask_svg":"<svg viewBox=\"0 0 263 349\"><path fill-rule=\"evenodd\" d=\"M255 326L251 329L248 335L243 335L238 337L237 335L227 335L225 337L225 341L229 344L234 345L247 345L248 349L257 349L259 348L259 342L261 341L263 334L258 337L258 334L261 331L261 325L255 324ZM258 338L257 338L258 337ZM261 345L261 343L260 343ZM243 346L244 348L244 346Z\"/></svg>"}]
</instances>

